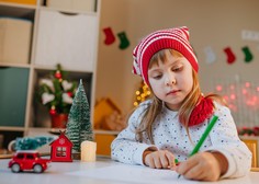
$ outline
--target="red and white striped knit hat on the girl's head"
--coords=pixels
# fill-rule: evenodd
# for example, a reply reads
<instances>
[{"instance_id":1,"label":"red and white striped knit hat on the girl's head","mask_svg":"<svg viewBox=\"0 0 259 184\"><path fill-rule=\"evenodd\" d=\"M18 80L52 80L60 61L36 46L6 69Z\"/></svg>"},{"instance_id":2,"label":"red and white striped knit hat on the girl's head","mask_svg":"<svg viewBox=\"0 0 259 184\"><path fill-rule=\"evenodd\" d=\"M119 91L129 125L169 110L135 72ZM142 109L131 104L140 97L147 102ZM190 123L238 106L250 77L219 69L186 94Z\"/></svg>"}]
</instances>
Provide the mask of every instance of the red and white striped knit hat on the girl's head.
<instances>
[{"instance_id":1,"label":"red and white striped knit hat on the girl's head","mask_svg":"<svg viewBox=\"0 0 259 184\"><path fill-rule=\"evenodd\" d=\"M133 50L133 73L143 77L148 82L148 64L157 51L172 48L181 53L198 72L198 59L189 43L189 28L187 26L156 31L146 37Z\"/></svg>"}]
</instances>

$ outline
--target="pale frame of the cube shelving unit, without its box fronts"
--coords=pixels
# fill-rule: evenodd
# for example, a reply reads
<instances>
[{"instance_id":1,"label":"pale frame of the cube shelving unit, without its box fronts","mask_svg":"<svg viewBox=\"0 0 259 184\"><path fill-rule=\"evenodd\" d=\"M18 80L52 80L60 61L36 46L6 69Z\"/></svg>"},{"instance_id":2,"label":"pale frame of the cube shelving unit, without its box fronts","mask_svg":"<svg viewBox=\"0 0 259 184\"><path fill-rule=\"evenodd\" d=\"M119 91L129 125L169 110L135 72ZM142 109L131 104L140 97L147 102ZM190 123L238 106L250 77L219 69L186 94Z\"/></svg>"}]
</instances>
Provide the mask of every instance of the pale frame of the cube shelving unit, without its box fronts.
<instances>
[{"instance_id":1,"label":"pale frame of the cube shelving unit, without its box fronts","mask_svg":"<svg viewBox=\"0 0 259 184\"><path fill-rule=\"evenodd\" d=\"M93 47L92 51L92 68L87 69L85 67L77 67L71 69L70 67L66 67L63 65L63 61L57 61L61 65L63 70L68 72L68 78L71 80L78 80L83 78L83 83L86 83L86 88L88 89L87 95L88 100L90 102L90 110L91 110L91 118L93 118L93 108L94 108L94 91L95 91L95 67L97 67L97 55L98 55L98 37L99 37L99 19L100 19L100 3L101 0L97 0L97 10L92 12L86 12L86 11L71 11L66 9L57 9L57 8L49 8L44 7L43 0L37 0L36 5L26 5L26 4L20 4L20 3L8 3L8 2L0 2L0 16L10 16L14 19L27 19L33 22L33 34L32 34L32 46L30 50L30 64L9 64L9 62L1 62L0 61L0 68L10 67L10 68L24 68L29 69L29 79L27 79L27 94L26 94L26 107L25 107L25 120L24 125L21 125L21 127L12 127L8 126L8 123L0 124L0 130L1 131L19 131L23 133L24 136L29 136L31 133L33 135L36 134L50 134L52 131L55 131L50 127L45 126L38 126L37 122L42 120L42 118L49 118L46 114L46 112L42 112L41 107L38 108L38 105L35 105L34 102L34 95L35 95L35 88L37 85L38 79L43 78L45 74L49 73L50 71L55 70L55 66L44 66L36 64L36 51L38 46L38 33L41 32L41 18L40 12L41 11L52 11L52 12L65 12L68 14L83 14L87 16L94 16L95 21L95 31L93 37L94 44L91 45ZM68 20L69 22L69 20ZM57 22L58 24L58 22ZM81 22L81 24L86 24L86 22ZM92 31L93 32L93 31ZM0 45L1 47L1 45ZM58 48L55 48L55 51L58 53ZM74 49L74 48L71 48ZM14 50L15 51L15 50ZM87 60L87 59L85 59ZM19 79L18 79L19 80ZM40 116L38 116L40 114ZM43 116L42 116L43 114ZM50 118L49 118L50 120ZM93 122L93 120L91 120ZM20 126L20 124L19 124ZM1 134L1 133L0 133Z\"/></svg>"}]
</instances>

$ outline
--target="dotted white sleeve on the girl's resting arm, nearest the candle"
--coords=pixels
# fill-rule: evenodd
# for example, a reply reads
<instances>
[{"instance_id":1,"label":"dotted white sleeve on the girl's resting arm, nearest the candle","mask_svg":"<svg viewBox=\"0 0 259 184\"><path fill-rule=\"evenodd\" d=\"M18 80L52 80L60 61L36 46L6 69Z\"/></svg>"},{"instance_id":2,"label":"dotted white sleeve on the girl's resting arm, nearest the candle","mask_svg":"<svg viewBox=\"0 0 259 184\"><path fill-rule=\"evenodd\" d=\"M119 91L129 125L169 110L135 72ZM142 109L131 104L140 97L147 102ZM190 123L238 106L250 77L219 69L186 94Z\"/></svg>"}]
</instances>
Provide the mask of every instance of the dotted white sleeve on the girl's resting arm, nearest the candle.
<instances>
[{"instance_id":1,"label":"dotted white sleeve on the girl's resting arm, nearest the candle","mask_svg":"<svg viewBox=\"0 0 259 184\"><path fill-rule=\"evenodd\" d=\"M142 143L136 140L135 131L140 123L140 118L146 106L146 103L139 105L139 107L131 115L128 126L113 140L111 145L111 156L113 160L128 164L144 164L143 152L147 148L154 150L157 149L153 145Z\"/></svg>"}]
</instances>

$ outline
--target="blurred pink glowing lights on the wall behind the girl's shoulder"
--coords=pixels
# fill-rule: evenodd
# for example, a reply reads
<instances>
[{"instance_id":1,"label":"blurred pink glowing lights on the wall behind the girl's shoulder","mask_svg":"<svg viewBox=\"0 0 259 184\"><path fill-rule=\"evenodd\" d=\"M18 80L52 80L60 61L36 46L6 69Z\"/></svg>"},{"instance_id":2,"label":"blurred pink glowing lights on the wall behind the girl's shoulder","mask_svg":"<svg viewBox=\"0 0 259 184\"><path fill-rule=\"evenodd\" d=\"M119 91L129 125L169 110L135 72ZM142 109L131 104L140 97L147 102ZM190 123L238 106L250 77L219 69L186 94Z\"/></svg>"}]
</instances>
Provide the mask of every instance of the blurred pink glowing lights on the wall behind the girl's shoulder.
<instances>
[{"instance_id":1,"label":"blurred pink glowing lights on the wall behind the girl's shoulder","mask_svg":"<svg viewBox=\"0 0 259 184\"><path fill-rule=\"evenodd\" d=\"M215 80L214 92L226 100L238 127L258 126L259 81Z\"/></svg>"}]
</instances>

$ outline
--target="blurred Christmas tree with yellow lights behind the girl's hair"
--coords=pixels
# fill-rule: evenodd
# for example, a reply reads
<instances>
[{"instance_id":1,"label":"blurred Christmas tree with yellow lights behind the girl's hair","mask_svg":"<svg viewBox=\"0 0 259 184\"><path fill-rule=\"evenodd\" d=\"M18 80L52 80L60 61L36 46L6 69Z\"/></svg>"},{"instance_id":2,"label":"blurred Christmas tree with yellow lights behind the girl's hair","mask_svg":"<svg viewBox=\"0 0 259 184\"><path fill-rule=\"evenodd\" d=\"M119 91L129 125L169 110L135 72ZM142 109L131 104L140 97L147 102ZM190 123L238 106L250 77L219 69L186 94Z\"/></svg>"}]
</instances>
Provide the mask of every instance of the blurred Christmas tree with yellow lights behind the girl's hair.
<instances>
[{"instance_id":1,"label":"blurred Christmas tree with yellow lights behind the girl's hair","mask_svg":"<svg viewBox=\"0 0 259 184\"><path fill-rule=\"evenodd\" d=\"M149 90L148 85L144 81L142 81L140 87L135 92L135 94L136 94L136 100L133 103L133 105L138 106L142 102L144 102L150 96L151 91Z\"/></svg>"}]
</instances>

